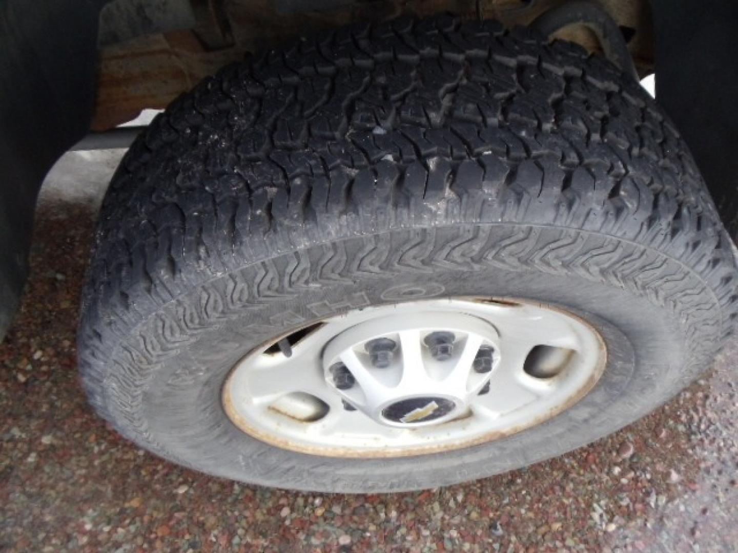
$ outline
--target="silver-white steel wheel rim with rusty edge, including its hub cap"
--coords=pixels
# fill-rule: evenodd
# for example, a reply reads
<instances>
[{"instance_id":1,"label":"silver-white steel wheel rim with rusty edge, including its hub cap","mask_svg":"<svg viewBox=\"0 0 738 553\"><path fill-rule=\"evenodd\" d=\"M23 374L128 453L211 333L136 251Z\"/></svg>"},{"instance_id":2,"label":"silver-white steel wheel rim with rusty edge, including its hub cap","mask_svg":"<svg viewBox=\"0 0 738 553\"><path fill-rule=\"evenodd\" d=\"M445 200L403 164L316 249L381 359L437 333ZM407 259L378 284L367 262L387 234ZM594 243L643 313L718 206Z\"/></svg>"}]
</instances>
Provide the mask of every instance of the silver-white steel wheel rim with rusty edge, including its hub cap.
<instances>
[{"instance_id":1,"label":"silver-white steel wheel rim with rusty edge, including its hub cap","mask_svg":"<svg viewBox=\"0 0 738 553\"><path fill-rule=\"evenodd\" d=\"M584 397L607 357L571 313L479 299L354 310L275 344L232 369L222 393L230 420L280 448L364 458L530 428Z\"/></svg>"}]
</instances>

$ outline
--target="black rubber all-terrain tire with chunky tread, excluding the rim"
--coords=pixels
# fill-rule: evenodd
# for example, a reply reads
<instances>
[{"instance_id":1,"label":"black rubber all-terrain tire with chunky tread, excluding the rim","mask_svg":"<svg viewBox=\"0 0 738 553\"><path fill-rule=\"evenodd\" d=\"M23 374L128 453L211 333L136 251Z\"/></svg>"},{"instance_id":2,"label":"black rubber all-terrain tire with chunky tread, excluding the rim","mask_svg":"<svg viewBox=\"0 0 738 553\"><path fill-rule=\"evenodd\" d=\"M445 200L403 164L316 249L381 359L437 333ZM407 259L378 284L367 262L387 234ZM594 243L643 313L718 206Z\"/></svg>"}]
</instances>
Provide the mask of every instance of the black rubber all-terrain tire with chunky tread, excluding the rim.
<instances>
[{"instance_id":1,"label":"black rubber all-terrain tire with chunky tread, excluding the rim","mask_svg":"<svg viewBox=\"0 0 738 553\"><path fill-rule=\"evenodd\" d=\"M228 66L128 151L79 332L94 408L159 456L302 490L454 484L643 417L737 318L731 243L686 145L606 60L440 17L326 32ZM461 296L582 317L607 366L540 425L446 453L342 459L236 428L221 389L258 344L354 307Z\"/></svg>"}]
</instances>

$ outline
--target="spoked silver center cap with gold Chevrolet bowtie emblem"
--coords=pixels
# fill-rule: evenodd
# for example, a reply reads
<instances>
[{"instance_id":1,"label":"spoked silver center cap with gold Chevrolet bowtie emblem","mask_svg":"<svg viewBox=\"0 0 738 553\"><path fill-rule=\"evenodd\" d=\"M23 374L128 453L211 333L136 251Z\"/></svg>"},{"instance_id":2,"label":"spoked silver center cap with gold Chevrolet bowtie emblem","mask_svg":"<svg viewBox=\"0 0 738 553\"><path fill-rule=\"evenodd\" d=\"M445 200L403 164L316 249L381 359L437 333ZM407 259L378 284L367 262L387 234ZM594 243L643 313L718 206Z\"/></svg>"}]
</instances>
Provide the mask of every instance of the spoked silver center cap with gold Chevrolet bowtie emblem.
<instances>
[{"instance_id":1,"label":"spoked silver center cap with gold Chevrolet bowtie emblem","mask_svg":"<svg viewBox=\"0 0 738 553\"><path fill-rule=\"evenodd\" d=\"M466 313L426 311L357 324L323 350L325 382L384 426L441 425L467 411L489 371L472 364L497 330Z\"/></svg>"}]
</instances>

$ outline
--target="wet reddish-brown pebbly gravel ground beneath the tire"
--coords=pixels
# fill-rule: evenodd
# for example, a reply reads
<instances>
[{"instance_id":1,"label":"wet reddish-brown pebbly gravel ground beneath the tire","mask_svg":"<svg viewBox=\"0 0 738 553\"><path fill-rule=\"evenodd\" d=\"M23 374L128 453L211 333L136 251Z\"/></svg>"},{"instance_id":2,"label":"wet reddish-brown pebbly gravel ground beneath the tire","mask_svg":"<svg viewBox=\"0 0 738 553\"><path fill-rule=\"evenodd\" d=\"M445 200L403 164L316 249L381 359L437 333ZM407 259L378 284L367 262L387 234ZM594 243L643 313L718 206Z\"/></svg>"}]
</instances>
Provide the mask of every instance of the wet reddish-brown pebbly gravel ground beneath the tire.
<instances>
[{"instance_id":1,"label":"wet reddish-brown pebbly gravel ground beneath the tire","mask_svg":"<svg viewBox=\"0 0 738 553\"><path fill-rule=\"evenodd\" d=\"M702 380L618 434L438 490L293 493L140 450L92 413L75 361L80 282L117 158L69 156L44 190L32 276L0 345L0 550L738 550L738 340Z\"/></svg>"}]
</instances>

